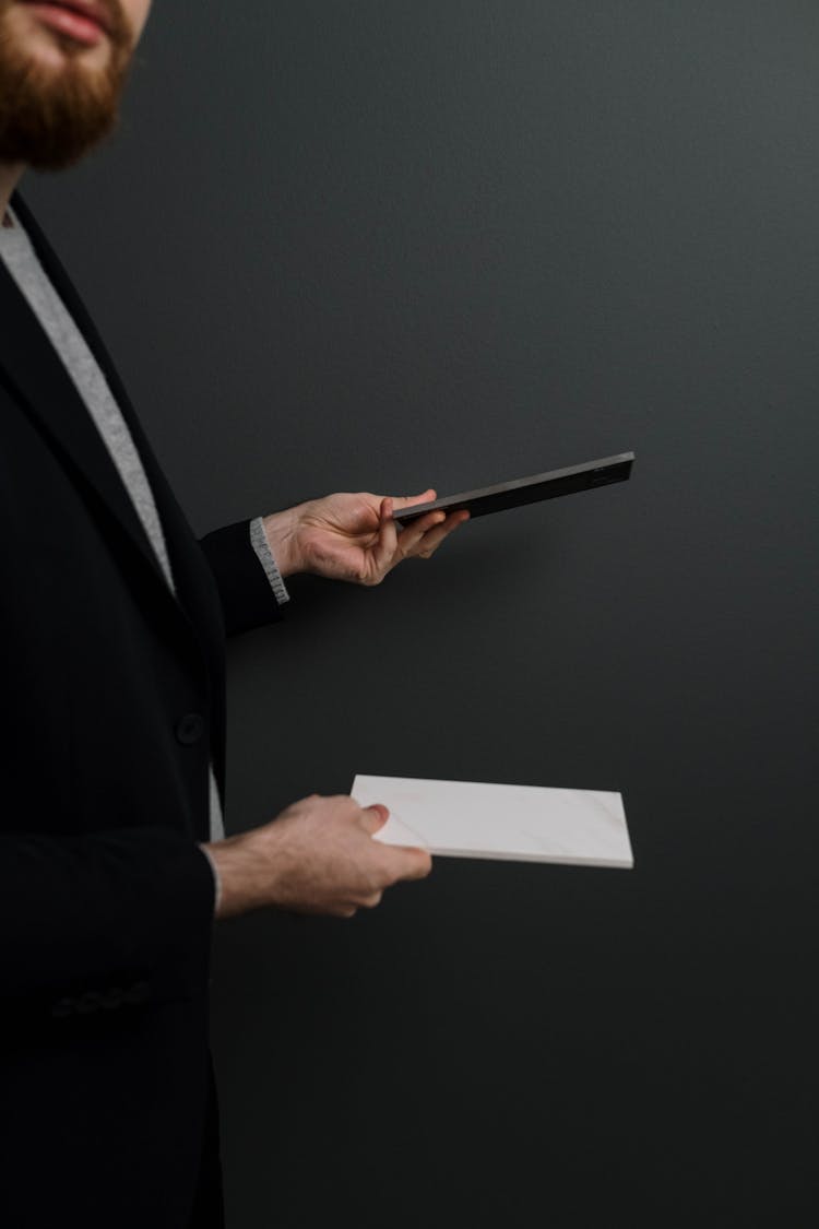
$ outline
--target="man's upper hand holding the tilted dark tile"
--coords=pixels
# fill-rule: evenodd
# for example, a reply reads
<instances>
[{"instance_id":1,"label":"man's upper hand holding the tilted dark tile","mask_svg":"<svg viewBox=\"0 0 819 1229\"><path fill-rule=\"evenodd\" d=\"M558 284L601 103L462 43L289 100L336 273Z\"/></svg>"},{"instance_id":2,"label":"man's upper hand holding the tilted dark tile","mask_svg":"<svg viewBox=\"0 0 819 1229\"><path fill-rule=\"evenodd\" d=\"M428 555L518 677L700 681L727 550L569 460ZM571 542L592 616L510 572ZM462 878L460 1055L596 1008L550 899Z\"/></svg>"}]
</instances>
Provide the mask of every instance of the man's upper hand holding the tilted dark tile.
<instances>
[{"instance_id":1,"label":"man's upper hand holding the tilted dark tile","mask_svg":"<svg viewBox=\"0 0 819 1229\"><path fill-rule=\"evenodd\" d=\"M443 540L469 520L465 510L426 512L402 527L395 509L429 504L435 490L390 498L327 495L264 517L268 543L284 578L309 571L329 580L377 585L404 559L429 559Z\"/></svg>"}]
</instances>

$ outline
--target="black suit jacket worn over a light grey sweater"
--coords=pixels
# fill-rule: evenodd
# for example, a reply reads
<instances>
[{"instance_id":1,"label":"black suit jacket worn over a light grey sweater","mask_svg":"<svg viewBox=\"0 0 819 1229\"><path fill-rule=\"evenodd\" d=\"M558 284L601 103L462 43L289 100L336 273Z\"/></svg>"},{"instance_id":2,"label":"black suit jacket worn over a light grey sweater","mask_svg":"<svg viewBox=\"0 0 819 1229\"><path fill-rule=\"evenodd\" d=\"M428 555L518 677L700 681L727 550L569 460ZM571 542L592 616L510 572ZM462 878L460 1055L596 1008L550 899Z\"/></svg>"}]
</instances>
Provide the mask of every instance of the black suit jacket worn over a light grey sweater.
<instances>
[{"instance_id":1,"label":"black suit jacket worn over a light grey sweater","mask_svg":"<svg viewBox=\"0 0 819 1229\"><path fill-rule=\"evenodd\" d=\"M0 262L0 1224L184 1229L208 1089L225 633L279 610L248 524L196 542L87 312L178 597Z\"/></svg>"}]
</instances>

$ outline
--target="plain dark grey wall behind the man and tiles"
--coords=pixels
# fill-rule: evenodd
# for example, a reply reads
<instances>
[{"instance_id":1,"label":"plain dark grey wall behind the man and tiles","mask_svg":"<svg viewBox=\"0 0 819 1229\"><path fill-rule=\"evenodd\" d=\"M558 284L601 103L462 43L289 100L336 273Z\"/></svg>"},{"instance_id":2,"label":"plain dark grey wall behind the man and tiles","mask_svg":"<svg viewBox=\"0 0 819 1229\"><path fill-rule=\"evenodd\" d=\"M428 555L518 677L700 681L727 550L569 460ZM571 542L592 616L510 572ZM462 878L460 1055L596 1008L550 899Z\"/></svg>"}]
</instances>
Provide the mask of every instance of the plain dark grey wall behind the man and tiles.
<instances>
[{"instance_id":1,"label":"plain dark grey wall behind the man and tiles","mask_svg":"<svg viewBox=\"0 0 819 1229\"><path fill-rule=\"evenodd\" d=\"M28 197L203 532L637 452L232 648L231 830L620 789L636 869L225 927L231 1229L814 1223L813 0L160 4Z\"/></svg>"}]
</instances>

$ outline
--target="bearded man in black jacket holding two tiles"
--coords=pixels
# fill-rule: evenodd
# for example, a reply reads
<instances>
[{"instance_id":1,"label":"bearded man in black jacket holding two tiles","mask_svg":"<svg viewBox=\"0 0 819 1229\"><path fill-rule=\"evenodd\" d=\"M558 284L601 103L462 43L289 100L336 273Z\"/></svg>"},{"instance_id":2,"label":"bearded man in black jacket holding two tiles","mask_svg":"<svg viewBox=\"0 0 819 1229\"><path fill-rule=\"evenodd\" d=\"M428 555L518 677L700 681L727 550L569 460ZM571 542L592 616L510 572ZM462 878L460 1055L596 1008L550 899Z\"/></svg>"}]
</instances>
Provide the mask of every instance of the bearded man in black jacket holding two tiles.
<instances>
[{"instance_id":1,"label":"bearded man in black jacket holding two tiles","mask_svg":"<svg viewBox=\"0 0 819 1229\"><path fill-rule=\"evenodd\" d=\"M222 1224L214 917L350 917L430 870L312 795L223 839L223 637L297 571L373 585L467 514L339 494L198 543L16 192L114 125L150 0L0 0L0 1224Z\"/></svg>"}]
</instances>

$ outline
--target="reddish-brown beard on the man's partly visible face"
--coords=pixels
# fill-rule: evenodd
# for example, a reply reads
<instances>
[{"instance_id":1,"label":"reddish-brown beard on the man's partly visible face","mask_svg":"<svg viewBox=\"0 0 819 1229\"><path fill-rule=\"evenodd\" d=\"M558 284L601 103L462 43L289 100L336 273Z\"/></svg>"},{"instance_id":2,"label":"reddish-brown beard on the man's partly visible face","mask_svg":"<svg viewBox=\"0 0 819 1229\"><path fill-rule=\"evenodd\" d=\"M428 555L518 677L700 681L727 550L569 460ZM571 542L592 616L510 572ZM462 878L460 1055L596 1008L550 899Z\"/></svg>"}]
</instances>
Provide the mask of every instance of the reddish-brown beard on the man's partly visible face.
<instances>
[{"instance_id":1,"label":"reddish-brown beard on the man's partly visible face","mask_svg":"<svg viewBox=\"0 0 819 1229\"><path fill-rule=\"evenodd\" d=\"M55 34L61 65L29 54L7 20L15 0L0 0L0 162L59 171L113 130L133 49L119 0L106 0L111 50L103 69L81 60L82 48Z\"/></svg>"}]
</instances>

